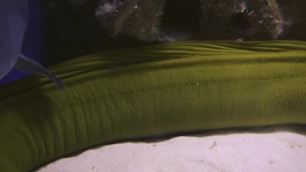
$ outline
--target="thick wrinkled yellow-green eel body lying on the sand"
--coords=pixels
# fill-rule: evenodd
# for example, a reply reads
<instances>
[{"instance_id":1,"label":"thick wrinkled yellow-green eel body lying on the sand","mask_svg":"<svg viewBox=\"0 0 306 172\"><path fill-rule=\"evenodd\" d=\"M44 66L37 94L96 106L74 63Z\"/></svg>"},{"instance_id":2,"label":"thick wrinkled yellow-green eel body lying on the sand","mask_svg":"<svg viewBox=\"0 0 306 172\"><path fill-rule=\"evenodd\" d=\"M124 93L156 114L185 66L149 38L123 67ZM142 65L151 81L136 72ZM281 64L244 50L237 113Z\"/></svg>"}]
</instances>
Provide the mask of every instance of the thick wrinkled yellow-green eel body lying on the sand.
<instances>
[{"instance_id":1,"label":"thick wrinkled yellow-green eel body lying on the sand","mask_svg":"<svg viewBox=\"0 0 306 172\"><path fill-rule=\"evenodd\" d=\"M0 171L113 141L306 124L306 42L177 42L75 58L0 87Z\"/></svg>"}]
</instances>

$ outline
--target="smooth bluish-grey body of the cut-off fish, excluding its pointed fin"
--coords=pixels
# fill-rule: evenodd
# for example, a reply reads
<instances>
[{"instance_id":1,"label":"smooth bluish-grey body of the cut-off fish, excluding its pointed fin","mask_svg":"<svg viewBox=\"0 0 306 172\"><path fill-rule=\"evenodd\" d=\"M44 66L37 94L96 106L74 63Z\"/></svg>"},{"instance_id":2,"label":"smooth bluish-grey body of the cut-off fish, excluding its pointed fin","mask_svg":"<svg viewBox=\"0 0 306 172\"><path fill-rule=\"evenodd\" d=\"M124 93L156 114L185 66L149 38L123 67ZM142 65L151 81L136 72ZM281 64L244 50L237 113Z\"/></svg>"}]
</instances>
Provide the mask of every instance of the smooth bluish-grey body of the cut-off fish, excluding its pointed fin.
<instances>
[{"instance_id":1,"label":"smooth bluish-grey body of the cut-off fish, excluding its pointed fin","mask_svg":"<svg viewBox=\"0 0 306 172\"><path fill-rule=\"evenodd\" d=\"M27 0L0 2L0 79L7 75L17 62L27 21Z\"/></svg>"}]
</instances>

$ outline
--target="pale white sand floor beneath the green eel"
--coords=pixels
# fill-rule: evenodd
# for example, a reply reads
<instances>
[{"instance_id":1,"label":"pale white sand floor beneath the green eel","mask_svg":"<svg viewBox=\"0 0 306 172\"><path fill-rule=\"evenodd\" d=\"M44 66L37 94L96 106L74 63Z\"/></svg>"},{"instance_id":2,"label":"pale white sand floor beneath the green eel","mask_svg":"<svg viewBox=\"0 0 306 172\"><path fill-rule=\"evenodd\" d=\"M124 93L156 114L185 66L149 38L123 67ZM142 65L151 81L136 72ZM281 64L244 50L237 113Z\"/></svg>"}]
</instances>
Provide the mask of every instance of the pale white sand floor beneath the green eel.
<instances>
[{"instance_id":1,"label":"pale white sand floor beneath the green eel","mask_svg":"<svg viewBox=\"0 0 306 172\"><path fill-rule=\"evenodd\" d=\"M306 171L306 135L217 132L124 142L62 158L38 171Z\"/></svg>"}]
</instances>

